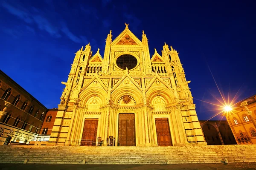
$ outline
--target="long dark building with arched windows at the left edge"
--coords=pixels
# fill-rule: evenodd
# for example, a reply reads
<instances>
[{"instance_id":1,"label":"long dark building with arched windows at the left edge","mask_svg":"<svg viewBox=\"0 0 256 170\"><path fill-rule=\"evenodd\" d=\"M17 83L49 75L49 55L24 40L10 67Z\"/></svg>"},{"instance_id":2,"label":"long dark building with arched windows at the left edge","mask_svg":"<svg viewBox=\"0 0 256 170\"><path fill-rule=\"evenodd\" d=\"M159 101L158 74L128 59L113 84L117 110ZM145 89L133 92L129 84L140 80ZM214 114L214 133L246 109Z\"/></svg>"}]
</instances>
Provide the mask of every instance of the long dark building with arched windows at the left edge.
<instances>
[{"instance_id":1,"label":"long dark building with arched windows at the left edge","mask_svg":"<svg viewBox=\"0 0 256 170\"><path fill-rule=\"evenodd\" d=\"M46 113L44 105L0 71L0 145L38 140Z\"/></svg>"}]
</instances>

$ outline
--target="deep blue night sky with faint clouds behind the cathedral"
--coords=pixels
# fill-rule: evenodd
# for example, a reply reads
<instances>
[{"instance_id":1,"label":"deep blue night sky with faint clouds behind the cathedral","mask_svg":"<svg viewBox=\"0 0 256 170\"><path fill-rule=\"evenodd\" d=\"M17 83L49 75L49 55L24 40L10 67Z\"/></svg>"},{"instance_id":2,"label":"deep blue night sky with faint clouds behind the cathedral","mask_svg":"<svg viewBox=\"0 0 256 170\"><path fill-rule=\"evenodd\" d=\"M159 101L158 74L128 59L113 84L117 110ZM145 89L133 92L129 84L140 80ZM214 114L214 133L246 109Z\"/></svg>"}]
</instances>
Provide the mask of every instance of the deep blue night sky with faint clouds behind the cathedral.
<instances>
[{"instance_id":1,"label":"deep blue night sky with faint clouds behind the cathedral","mask_svg":"<svg viewBox=\"0 0 256 170\"><path fill-rule=\"evenodd\" d=\"M140 40L145 31L151 55L164 42L180 52L198 118L209 119L216 107L199 100L221 98L209 68L225 96L256 94L255 9L249 0L0 0L0 69L56 108L74 53L90 42L103 56L109 31L114 40L129 23Z\"/></svg>"}]
</instances>

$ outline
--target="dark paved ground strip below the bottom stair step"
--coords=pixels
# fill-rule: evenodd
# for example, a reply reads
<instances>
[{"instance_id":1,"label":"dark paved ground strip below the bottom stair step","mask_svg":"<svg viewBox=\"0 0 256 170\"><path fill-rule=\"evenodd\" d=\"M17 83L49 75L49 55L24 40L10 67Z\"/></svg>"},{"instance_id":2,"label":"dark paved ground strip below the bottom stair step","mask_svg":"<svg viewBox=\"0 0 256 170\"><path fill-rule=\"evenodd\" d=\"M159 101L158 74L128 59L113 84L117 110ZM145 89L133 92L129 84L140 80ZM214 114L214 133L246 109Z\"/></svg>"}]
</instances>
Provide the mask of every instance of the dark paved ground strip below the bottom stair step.
<instances>
[{"instance_id":1,"label":"dark paved ground strip below the bottom stair step","mask_svg":"<svg viewBox=\"0 0 256 170\"><path fill-rule=\"evenodd\" d=\"M256 170L256 163L155 165L0 164L0 170Z\"/></svg>"}]
</instances>

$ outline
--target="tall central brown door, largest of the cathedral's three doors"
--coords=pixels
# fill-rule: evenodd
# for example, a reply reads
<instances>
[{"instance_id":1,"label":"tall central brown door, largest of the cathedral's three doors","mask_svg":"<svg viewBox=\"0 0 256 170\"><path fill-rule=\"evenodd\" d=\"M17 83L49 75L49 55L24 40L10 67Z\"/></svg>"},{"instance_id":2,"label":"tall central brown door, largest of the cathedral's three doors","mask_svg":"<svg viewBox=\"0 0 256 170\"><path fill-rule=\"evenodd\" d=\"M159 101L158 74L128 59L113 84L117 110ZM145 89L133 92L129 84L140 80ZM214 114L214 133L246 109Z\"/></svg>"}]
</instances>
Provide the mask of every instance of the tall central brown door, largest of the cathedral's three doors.
<instances>
[{"instance_id":1,"label":"tall central brown door, largest of the cathedral's three doors","mask_svg":"<svg viewBox=\"0 0 256 170\"><path fill-rule=\"evenodd\" d=\"M118 146L136 146L134 113L119 114Z\"/></svg>"}]
</instances>

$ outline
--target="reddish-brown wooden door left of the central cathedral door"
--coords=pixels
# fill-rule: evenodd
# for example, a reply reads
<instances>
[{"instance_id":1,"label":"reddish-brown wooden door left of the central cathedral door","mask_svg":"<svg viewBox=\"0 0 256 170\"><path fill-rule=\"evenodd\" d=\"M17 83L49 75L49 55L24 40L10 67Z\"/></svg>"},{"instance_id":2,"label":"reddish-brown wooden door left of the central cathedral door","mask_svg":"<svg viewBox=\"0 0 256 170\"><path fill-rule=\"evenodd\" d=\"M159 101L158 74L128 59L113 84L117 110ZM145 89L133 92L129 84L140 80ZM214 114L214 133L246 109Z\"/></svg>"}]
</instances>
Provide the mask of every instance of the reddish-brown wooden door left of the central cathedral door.
<instances>
[{"instance_id":1,"label":"reddish-brown wooden door left of the central cathedral door","mask_svg":"<svg viewBox=\"0 0 256 170\"><path fill-rule=\"evenodd\" d=\"M82 141L81 146L95 146L96 137L97 137L97 127L98 127L98 119L84 120L84 130L83 130L82 140L93 140L93 142Z\"/></svg>"}]
</instances>

